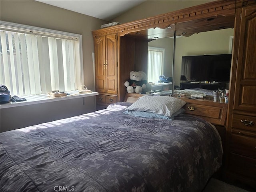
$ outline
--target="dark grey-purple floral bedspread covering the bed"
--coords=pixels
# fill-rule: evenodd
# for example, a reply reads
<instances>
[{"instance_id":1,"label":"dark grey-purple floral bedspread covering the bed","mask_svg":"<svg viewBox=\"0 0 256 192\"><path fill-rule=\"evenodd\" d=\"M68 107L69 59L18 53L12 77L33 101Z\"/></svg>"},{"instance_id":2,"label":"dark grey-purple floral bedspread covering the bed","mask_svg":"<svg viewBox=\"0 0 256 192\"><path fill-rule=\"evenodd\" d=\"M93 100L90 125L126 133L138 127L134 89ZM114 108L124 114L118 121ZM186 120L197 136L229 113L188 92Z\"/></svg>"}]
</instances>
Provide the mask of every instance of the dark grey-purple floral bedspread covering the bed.
<instances>
[{"instance_id":1,"label":"dark grey-purple floral bedspread covering the bed","mask_svg":"<svg viewBox=\"0 0 256 192\"><path fill-rule=\"evenodd\" d=\"M214 126L128 105L1 133L1 192L200 192L222 162Z\"/></svg>"}]
</instances>

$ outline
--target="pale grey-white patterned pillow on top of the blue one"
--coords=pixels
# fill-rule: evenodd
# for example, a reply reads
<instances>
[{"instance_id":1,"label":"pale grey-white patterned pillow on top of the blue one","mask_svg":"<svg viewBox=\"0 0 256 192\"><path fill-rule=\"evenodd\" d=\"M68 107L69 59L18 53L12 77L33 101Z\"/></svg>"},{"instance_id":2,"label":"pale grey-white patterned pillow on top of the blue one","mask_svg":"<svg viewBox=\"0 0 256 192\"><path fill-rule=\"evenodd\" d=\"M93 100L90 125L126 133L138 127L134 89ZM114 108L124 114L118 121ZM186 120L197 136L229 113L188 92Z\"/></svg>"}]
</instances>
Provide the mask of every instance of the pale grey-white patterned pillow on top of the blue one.
<instances>
[{"instance_id":1,"label":"pale grey-white patterned pillow on top of the blue one","mask_svg":"<svg viewBox=\"0 0 256 192\"><path fill-rule=\"evenodd\" d=\"M185 104L185 101L174 97L145 95L125 110L146 111L170 117Z\"/></svg>"}]
</instances>

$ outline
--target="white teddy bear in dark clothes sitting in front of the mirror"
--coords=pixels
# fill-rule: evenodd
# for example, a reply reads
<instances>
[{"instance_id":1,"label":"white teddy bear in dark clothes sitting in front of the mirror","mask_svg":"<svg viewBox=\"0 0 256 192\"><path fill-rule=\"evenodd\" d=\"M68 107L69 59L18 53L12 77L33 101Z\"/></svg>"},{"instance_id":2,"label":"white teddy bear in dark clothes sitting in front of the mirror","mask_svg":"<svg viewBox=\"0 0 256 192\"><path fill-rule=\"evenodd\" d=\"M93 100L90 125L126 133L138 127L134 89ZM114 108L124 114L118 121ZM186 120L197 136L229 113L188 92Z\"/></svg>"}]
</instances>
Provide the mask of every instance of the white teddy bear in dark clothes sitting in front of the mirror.
<instances>
[{"instance_id":1,"label":"white teddy bear in dark clothes sitting in front of the mirror","mask_svg":"<svg viewBox=\"0 0 256 192\"><path fill-rule=\"evenodd\" d=\"M128 93L141 93L151 90L151 84L147 82L147 75L142 71L131 71L130 79L124 82Z\"/></svg>"}]
</instances>

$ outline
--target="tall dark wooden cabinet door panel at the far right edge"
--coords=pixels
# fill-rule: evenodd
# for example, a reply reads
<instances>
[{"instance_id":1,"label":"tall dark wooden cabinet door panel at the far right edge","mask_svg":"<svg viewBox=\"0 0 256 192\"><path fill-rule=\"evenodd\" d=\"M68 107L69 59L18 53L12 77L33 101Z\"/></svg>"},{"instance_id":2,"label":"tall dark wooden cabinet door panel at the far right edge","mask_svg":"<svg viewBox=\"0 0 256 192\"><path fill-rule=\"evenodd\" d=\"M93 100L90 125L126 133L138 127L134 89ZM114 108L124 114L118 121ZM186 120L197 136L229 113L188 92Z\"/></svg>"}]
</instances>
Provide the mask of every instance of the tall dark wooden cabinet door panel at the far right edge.
<instances>
[{"instance_id":1,"label":"tall dark wooden cabinet door panel at the far right edge","mask_svg":"<svg viewBox=\"0 0 256 192\"><path fill-rule=\"evenodd\" d=\"M256 112L256 6L242 8L234 109Z\"/></svg>"}]
</instances>

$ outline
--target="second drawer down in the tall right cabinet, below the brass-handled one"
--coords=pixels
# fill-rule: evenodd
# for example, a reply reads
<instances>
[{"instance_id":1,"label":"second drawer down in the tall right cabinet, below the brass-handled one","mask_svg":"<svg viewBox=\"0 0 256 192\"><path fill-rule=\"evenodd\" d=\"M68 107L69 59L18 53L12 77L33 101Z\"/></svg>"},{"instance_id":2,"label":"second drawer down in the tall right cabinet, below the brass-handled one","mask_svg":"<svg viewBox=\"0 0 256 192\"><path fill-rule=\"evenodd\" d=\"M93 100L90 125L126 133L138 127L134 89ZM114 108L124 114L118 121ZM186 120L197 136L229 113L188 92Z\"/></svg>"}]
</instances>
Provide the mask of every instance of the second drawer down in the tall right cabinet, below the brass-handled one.
<instances>
[{"instance_id":1,"label":"second drawer down in the tall right cabinet, below the brass-handled one","mask_svg":"<svg viewBox=\"0 0 256 192\"><path fill-rule=\"evenodd\" d=\"M256 158L256 138L231 134L230 151Z\"/></svg>"}]
</instances>

